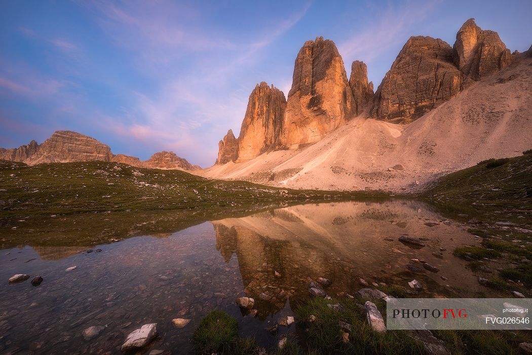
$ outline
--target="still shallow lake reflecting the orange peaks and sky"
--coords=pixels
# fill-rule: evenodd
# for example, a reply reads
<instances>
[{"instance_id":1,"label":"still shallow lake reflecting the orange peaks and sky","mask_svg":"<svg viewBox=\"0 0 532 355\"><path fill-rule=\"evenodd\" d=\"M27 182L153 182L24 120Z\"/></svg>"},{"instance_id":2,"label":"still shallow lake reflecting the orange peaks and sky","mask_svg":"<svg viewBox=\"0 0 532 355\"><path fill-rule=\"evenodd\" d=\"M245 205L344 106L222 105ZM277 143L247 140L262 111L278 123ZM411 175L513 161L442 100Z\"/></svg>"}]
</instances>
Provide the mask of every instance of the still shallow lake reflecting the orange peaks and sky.
<instances>
[{"instance_id":1,"label":"still shallow lake reflecting the orange peaks and sky","mask_svg":"<svg viewBox=\"0 0 532 355\"><path fill-rule=\"evenodd\" d=\"M405 235L426 245L398 241ZM277 335L264 329L309 298L309 278L330 279L331 296L353 294L364 287L360 278L405 290L415 278L425 286L421 297L485 292L452 255L477 240L426 204L393 200L296 205L96 246L20 245L0 254L0 353L119 354L126 336L146 323L157 323L160 334L146 354L188 353L194 329L213 309L235 316L241 335L272 349L297 325ZM411 259L440 271L412 272ZM14 274L31 278L8 284ZM44 282L35 287L37 275ZM271 300L258 300L261 293ZM240 296L257 300L256 317L236 306ZM191 321L178 329L173 318ZM105 330L87 341L82 332L90 326Z\"/></svg>"}]
</instances>

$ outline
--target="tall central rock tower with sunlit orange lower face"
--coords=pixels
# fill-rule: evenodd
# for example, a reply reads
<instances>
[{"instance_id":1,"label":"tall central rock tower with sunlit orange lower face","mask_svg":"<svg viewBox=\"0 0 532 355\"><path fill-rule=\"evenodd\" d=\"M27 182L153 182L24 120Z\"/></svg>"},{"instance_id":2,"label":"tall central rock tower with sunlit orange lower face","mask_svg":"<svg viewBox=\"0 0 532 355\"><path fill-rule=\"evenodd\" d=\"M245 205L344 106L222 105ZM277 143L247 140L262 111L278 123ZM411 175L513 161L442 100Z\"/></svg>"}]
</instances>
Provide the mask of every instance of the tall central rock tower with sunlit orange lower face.
<instances>
[{"instance_id":1,"label":"tall central rock tower with sunlit orange lower face","mask_svg":"<svg viewBox=\"0 0 532 355\"><path fill-rule=\"evenodd\" d=\"M314 143L354 114L342 57L331 40L305 42L297 54L281 129L281 147Z\"/></svg>"}]
</instances>

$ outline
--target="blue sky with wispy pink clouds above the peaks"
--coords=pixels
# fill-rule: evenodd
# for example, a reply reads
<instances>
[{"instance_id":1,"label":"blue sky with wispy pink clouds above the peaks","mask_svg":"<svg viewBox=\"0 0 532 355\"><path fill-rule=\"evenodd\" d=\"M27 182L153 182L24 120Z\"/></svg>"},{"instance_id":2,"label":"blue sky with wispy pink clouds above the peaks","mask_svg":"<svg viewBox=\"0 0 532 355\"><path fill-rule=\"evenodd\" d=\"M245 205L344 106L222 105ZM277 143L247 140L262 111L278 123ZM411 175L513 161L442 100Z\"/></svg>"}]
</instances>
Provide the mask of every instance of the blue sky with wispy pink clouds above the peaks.
<instances>
[{"instance_id":1,"label":"blue sky with wispy pink clouds above the peaks","mask_svg":"<svg viewBox=\"0 0 532 355\"><path fill-rule=\"evenodd\" d=\"M54 130L113 153L172 150L212 165L255 84L285 94L305 40L332 39L377 88L412 35L451 46L473 17L513 52L532 44L531 1L0 1L0 146Z\"/></svg>"}]
</instances>

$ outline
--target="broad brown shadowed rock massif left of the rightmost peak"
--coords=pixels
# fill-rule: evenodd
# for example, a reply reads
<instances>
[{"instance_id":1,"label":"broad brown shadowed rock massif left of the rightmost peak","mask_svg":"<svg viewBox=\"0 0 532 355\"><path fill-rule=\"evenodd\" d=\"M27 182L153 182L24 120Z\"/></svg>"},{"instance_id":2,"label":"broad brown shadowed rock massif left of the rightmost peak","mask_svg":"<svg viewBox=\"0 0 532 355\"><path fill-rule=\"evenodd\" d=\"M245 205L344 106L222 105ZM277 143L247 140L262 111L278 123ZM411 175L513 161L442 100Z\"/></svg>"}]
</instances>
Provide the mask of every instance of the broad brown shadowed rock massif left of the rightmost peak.
<instances>
[{"instance_id":1,"label":"broad brown shadowed rock massif left of the rightmost peak","mask_svg":"<svg viewBox=\"0 0 532 355\"><path fill-rule=\"evenodd\" d=\"M410 37L375 93L373 117L409 123L458 94L465 84L441 39Z\"/></svg>"}]
</instances>

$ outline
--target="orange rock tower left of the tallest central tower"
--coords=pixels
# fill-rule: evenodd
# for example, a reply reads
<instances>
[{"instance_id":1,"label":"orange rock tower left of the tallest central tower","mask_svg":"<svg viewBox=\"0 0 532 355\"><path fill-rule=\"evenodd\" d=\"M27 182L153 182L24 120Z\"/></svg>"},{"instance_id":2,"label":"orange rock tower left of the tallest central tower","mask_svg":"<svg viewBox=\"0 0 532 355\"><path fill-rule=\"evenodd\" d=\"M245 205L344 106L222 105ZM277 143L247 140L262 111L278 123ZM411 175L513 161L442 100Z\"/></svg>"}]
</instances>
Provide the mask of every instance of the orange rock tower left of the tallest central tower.
<instances>
[{"instance_id":1,"label":"orange rock tower left of the tallest central tower","mask_svg":"<svg viewBox=\"0 0 532 355\"><path fill-rule=\"evenodd\" d=\"M247 103L238 137L238 161L246 161L279 146L285 94L264 81L257 84Z\"/></svg>"}]
</instances>

